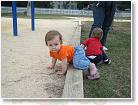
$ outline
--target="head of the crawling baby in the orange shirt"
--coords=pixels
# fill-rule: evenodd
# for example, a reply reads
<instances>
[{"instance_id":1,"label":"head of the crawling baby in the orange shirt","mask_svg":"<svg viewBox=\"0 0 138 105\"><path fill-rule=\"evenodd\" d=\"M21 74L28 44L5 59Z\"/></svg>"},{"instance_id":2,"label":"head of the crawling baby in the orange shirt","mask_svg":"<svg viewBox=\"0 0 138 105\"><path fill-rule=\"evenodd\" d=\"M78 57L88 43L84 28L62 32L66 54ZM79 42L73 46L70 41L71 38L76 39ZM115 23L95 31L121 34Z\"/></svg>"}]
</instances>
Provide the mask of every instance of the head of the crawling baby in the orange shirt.
<instances>
[{"instance_id":1,"label":"head of the crawling baby in the orange shirt","mask_svg":"<svg viewBox=\"0 0 138 105\"><path fill-rule=\"evenodd\" d=\"M50 51L58 51L62 41L62 35L58 31L51 30L46 33L45 42Z\"/></svg>"}]
</instances>

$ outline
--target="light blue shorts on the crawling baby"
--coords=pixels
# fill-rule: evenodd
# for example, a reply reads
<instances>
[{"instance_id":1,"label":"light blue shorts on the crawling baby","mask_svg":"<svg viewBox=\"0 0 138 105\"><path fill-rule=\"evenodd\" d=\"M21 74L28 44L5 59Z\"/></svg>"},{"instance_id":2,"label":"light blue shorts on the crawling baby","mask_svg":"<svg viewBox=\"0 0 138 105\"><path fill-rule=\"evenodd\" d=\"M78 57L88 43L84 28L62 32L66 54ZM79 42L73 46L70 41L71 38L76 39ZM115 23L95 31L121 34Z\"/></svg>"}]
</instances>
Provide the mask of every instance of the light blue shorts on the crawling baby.
<instances>
[{"instance_id":1,"label":"light blue shorts on the crawling baby","mask_svg":"<svg viewBox=\"0 0 138 105\"><path fill-rule=\"evenodd\" d=\"M88 70L90 65L89 59L85 56L85 51L82 47L74 47L73 66L77 69Z\"/></svg>"}]
</instances>

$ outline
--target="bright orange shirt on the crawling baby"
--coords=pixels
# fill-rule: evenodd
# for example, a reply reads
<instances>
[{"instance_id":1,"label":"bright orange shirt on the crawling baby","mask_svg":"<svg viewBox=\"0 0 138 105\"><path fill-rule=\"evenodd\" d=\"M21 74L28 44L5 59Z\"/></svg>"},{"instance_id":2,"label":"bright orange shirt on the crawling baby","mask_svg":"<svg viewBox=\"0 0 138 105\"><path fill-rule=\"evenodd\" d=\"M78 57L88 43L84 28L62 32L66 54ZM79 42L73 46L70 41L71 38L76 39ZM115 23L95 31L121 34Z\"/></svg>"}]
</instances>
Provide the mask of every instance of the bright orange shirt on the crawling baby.
<instances>
[{"instance_id":1,"label":"bright orange shirt on the crawling baby","mask_svg":"<svg viewBox=\"0 0 138 105\"><path fill-rule=\"evenodd\" d=\"M58 52L50 51L50 56L60 61L67 58L67 62L71 63L74 56L74 48L71 46L61 45L61 48Z\"/></svg>"}]
</instances>

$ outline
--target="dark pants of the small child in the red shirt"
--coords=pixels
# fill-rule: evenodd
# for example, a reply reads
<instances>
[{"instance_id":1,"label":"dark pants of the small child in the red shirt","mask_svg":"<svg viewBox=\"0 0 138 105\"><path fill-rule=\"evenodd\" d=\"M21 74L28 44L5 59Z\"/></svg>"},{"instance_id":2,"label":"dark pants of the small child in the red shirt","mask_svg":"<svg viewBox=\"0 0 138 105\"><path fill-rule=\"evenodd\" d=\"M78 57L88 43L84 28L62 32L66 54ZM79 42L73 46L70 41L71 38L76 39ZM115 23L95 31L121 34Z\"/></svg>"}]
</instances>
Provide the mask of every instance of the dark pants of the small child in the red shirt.
<instances>
[{"instance_id":1,"label":"dark pants of the small child in the red shirt","mask_svg":"<svg viewBox=\"0 0 138 105\"><path fill-rule=\"evenodd\" d=\"M97 65L97 63L107 60L108 57L105 53L103 53L102 55L95 55L96 57L94 59L88 58L90 60L90 62L94 63L95 65Z\"/></svg>"}]
</instances>

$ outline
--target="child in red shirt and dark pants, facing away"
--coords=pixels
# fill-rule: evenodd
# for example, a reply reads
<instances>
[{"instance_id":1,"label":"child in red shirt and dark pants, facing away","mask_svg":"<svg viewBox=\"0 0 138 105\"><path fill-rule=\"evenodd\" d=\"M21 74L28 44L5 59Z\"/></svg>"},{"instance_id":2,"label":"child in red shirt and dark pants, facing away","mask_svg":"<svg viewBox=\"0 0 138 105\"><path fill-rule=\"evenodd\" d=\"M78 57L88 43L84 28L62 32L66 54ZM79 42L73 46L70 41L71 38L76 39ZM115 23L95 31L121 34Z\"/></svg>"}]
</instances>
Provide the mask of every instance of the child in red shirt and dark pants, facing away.
<instances>
[{"instance_id":1,"label":"child in red shirt and dark pants, facing away","mask_svg":"<svg viewBox=\"0 0 138 105\"><path fill-rule=\"evenodd\" d=\"M86 56L94 64L103 61L105 64L110 64L111 60L108 59L107 55L103 50L103 46L100 42L103 36L103 30L101 28L94 28L91 38L86 39L81 47L86 47Z\"/></svg>"}]
</instances>

